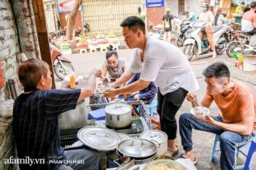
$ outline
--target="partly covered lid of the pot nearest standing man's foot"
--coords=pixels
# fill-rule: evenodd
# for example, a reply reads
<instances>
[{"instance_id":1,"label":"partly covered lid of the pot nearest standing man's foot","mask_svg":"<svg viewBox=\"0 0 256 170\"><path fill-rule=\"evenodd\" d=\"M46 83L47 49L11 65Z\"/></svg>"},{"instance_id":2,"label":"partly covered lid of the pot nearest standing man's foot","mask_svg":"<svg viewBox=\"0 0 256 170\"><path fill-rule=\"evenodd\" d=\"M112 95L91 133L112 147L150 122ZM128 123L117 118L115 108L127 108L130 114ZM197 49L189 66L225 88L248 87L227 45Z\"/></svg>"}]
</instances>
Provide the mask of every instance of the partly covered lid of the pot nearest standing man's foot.
<instances>
[{"instance_id":1,"label":"partly covered lid of the pot nearest standing man's foot","mask_svg":"<svg viewBox=\"0 0 256 170\"><path fill-rule=\"evenodd\" d=\"M143 133L140 134L140 138L148 139L152 142L157 142L158 144L161 144L162 142L167 142L167 134L159 130L143 131Z\"/></svg>"}]
</instances>

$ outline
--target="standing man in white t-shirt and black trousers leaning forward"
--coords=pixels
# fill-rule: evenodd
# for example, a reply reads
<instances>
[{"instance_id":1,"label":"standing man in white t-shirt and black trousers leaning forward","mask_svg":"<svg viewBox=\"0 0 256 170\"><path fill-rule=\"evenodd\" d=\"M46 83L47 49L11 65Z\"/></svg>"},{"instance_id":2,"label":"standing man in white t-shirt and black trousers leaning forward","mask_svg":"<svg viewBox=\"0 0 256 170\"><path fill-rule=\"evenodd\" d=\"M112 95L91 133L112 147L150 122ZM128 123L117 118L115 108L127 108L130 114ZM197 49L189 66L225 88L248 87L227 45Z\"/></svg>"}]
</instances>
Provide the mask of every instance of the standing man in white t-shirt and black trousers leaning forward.
<instances>
[{"instance_id":1,"label":"standing man in white t-shirt and black trousers leaning forward","mask_svg":"<svg viewBox=\"0 0 256 170\"><path fill-rule=\"evenodd\" d=\"M121 75L112 87L124 84L135 73L140 80L123 88L108 90L107 97L118 94L134 93L142 90L151 82L158 86L158 107L162 131L168 136L170 155L178 153L176 139L176 112L186 98L188 91L197 90L198 84L186 56L174 45L146 36L145 23L138 17L126 18L122 23L124 41L129 48L136 48L135 56L127 72Z\"/></svg>"}]
</instances>

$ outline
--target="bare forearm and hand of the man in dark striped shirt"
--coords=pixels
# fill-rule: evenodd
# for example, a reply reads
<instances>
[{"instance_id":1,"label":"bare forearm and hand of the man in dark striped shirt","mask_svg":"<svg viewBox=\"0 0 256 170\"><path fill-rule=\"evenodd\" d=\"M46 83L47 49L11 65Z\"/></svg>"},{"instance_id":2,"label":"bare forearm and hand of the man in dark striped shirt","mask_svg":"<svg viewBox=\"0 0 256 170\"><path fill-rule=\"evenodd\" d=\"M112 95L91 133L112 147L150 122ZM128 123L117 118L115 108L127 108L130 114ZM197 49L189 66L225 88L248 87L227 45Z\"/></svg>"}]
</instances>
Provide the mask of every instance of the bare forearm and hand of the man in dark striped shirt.
<instances>
[{"instance_id":1,"label":"bare forearm and hand of the man in dark striped shirt","mask_svg":"<svg viewBox=\"0 0 256 170\"><path fill-rule=\"evenodd\" d=\"M78 101L83 98L94 95L94 89L96 87L96 77L99 77L100 74L101 74L101 72L97 69L94 69L93 71L91 71L91 73L89 74L89 79L86 82L85 88L81 89L81 93L78 98Z\"/></svg>"}]
</instances>

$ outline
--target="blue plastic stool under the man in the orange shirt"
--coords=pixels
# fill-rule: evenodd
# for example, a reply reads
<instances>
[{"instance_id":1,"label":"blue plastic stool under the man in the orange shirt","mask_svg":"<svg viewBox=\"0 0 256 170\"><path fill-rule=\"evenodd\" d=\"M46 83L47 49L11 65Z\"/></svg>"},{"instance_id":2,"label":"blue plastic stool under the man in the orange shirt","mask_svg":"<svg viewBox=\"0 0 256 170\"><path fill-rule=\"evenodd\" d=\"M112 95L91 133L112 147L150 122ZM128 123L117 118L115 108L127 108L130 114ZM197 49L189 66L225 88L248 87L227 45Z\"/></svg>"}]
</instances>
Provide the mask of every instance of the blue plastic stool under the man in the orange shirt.
<instances>
[{"instance_id":1,"label":"blue plastic stool under the man in the orange shirt","mask_svg":"<svg viewBox=\"0 0 256 170\"><path fill-rule=\"evenodd\" d=\"M255 137L252 137L252 138L255 138ZM211 161L214 161L214 162L216 162L216 163L219 163L219 158L217 158L217 157L215 156L215 154L216 154L217 152L220 152L220 149L217 148L217 142L219 142L219 135L216 135L216 136L215 136L214 148L213 148L213 150L212 150L212 152L211 152ZM247 161L247 155L246 155L246 153L244 153L244 151L241 150L241 149L242 149L242 148L247 148L247 149L249 150L250 144L251 144L251 142L248 142L247 144L244 144L244 145L242 145L241 147L238 147L238 148L237 148L237 154L236 154L236 155L238 156L238 154L239 154L239 152L240 152L242 155L244 155L244 156L246 157L246 161ZM256 147L255 147L255 148L256 148ZM245 167L245 165L246 165L246 163L245 163L245 164L242 164L242 165L235 166L235 169L243 169L243 168ZM249 166L249 170L252 170L252 163L249 163L248 166Z\"/></svg>"}]
</instances>

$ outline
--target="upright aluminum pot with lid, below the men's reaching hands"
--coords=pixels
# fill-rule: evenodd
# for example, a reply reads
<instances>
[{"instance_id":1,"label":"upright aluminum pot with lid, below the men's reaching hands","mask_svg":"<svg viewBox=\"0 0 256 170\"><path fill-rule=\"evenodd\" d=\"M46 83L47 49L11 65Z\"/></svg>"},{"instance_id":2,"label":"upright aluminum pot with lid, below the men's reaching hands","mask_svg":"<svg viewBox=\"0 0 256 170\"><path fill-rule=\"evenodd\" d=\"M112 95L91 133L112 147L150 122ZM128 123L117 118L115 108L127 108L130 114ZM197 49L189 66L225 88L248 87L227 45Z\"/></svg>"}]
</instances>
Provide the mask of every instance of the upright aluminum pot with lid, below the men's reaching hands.
<instances>
[{"instance_id":1,"label":"upright aluminum pot with lid, below the men's reaching hands","mask_svg":"<svg viewBox=\"0 0 256 170\"><path fill-rule=\"evenodd\" d=\"M106 125L110 128L126 128L132 124L132 109L128 104L117 103L105 107Z\"/></svg>"}]
</instances>

